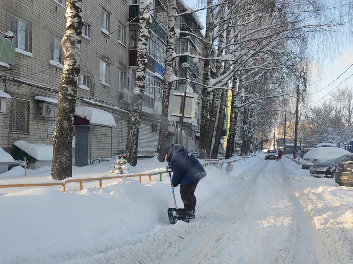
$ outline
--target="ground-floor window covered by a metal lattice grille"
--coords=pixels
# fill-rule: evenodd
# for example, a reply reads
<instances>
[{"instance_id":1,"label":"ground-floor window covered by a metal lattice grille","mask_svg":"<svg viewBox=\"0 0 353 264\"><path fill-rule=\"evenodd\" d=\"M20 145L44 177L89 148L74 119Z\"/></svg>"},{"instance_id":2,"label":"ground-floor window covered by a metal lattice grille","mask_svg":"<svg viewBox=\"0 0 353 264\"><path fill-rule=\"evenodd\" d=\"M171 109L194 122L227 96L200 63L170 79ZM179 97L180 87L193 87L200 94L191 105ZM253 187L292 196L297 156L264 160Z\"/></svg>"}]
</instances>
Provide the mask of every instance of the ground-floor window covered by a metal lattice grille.
<instances>
[{"instance_id":1,"label":"ground-floor window covered by a metal lattice grille","mask_svg":"<svg viewBox=\"0 0 353 264\"><path fill-rule=\"evenodd\" d=\"M9 132L29 134L30 101L18 98L10 100Z\"/></svg>"}]
</instances>

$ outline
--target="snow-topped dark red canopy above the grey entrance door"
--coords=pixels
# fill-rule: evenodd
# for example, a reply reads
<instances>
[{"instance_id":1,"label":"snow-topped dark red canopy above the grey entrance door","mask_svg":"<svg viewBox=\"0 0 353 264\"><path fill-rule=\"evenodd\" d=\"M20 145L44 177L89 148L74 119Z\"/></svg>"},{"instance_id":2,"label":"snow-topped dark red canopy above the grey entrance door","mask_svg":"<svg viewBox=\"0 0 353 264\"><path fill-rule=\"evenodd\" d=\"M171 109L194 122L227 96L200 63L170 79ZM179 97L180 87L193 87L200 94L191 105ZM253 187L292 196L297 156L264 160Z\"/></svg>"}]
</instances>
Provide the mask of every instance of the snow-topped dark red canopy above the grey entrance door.
<instances>
[{"instance_id":1,"label":"snow-topped dark red canopy above the grey entrance door","mask_svg":"<svg viewBox=\"0 0 353 264\"><path fill-rule=\"evenodd\" d=\"M89 120L90 125L106 127L116 126L113 115L101 109L89 106L76 106L75 115Z\"/></svg>"}]
</instances>

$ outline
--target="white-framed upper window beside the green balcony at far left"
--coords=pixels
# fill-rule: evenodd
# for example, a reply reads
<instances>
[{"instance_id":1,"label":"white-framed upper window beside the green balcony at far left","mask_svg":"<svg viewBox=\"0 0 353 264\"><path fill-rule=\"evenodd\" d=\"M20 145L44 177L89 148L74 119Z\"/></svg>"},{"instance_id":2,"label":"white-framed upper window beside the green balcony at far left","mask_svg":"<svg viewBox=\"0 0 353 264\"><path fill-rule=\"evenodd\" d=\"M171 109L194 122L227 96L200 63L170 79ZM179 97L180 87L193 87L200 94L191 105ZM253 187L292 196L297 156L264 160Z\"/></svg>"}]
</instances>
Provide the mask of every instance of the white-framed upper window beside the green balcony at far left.
<instances>
[{"instance_id":1,"label":"white-framed upper window beside the green balcony at far left","mask_svg":"<svg viewBox=\"0 0 353 264\"><path fill-rule=\"evenodd\" d=\"M21 19L11 17L11 32L13 33L13 42L16 44L16 48L28 51L29 24Z\"/></svg>"}]
</instances>

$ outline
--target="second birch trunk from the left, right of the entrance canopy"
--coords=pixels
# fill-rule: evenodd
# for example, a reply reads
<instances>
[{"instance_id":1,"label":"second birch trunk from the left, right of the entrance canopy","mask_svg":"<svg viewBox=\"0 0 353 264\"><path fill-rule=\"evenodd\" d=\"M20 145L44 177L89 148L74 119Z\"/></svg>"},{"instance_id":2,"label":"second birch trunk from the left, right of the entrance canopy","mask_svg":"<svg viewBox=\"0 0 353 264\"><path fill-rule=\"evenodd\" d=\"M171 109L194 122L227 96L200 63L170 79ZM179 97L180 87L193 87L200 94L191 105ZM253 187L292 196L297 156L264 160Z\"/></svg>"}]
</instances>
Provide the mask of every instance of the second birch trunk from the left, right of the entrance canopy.
<instances>
[{"instance_id":1,"label":"second birch trunk from the left, right of the entrance canopy","mask_svg":"<svg viewBox=\"0 0 353 264\"><path fill-rule=\"evenodd\" d=\"M138 20L136 77L135 87L132 93L132 107L126 142L126 161L131 166L136 166L137 164L138 134L140 130L140 120L142 116L142 104L145 90L147 40L150 37L148 29L152 24L149 13L151 4L152 1L139 1L140 17Z\"/></svg>"}]
</instances>

